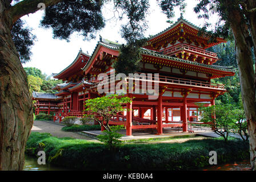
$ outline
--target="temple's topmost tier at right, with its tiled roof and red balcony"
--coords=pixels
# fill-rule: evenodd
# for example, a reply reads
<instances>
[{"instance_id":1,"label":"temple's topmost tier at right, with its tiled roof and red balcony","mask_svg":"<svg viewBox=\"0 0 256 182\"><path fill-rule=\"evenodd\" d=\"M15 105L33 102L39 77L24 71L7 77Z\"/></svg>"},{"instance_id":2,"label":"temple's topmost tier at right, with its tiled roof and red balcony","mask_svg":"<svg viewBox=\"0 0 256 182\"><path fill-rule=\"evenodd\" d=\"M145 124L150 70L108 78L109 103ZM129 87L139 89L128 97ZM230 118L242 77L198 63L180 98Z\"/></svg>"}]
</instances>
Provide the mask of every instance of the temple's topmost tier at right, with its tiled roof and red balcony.
<instances>
[{"instance_id":1,"label":"temple's topmost tier at right, with its tiled roof and red balcony","mask_svg":"<svg viewBox=\"0 0 256 182\"><path fill-rule=\"evenodd\" d=\"M219 43L225 43L223 38L210 41L207 34L199 35L201 28L190 23L183 16L172 26L159 34L151 36L144 47L163 55L177 57L197 63L213 64L218 61L217 53L206 49Z\"/></svg>"}]
</instances>

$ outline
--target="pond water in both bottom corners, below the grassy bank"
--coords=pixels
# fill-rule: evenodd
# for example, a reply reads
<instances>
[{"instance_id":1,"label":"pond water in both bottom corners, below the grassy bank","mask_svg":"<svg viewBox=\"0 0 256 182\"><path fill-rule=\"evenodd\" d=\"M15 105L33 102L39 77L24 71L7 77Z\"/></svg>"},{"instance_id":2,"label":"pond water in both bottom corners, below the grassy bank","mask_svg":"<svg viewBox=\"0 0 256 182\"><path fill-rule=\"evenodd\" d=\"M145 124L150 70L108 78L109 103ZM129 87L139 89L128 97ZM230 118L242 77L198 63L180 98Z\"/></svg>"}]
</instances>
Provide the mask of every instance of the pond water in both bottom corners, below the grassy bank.
<instances>
[{"instance_id":1,"label":"pond water in both bottom corners, below the grassy bank","mask_svg":"<svg viewBox=\"0 0 256 182\"><path fill-rule=\"evenodd\" d=\"M208 168L199 169L199 171L249 171L251 164L249 160L234 162L229 164L214 165ZM23 171L71 171L73 169L55 167L51 164L39 165L37 158L26 155Z\"/></svg>"}]
</instances>

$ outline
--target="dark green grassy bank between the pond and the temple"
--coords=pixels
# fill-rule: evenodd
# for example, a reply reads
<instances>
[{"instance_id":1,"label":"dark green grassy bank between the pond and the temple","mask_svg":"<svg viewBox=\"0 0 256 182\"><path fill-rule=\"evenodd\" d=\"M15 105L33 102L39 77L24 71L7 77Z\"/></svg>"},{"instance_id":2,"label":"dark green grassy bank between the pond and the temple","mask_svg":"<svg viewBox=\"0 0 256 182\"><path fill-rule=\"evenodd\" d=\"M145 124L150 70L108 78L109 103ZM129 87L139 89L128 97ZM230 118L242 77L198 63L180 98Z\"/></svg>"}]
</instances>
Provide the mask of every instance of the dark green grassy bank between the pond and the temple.
<instances>
[{"instance_id":1,"label":"dark green grassy bank between the pond and the temple","mask_svg":"<svg viewBox=\"0 0 256 182\"><path fill-rule=\"evenodd\" d=\"M96 142L31 133L26 154L45 150L48 162L86 170L187 170L209 166L209 152L217 151L218 164L249 159L249 143L222 139L183 143L123 144L116 154Z\"/></svg>"}]
</instances>

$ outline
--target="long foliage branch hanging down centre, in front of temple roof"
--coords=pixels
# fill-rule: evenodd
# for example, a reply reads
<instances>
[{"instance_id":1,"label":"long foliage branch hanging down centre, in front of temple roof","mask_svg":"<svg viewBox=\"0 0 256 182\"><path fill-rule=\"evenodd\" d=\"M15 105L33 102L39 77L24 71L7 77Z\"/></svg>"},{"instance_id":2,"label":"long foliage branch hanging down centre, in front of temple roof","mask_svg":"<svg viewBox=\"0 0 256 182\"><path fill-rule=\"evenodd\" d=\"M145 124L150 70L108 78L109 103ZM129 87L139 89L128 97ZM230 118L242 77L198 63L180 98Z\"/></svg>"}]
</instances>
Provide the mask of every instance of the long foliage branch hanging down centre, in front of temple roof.
<instances>
[{"instance_id":1,"label":"long foliage branch hanging down centre, in front of temple roof","mask_svg":"<svg viewBox=\"0 0 256 182\"><path fill-rule=\"evenodd\" d=\"M119 19L122 20L123 15L129 19L121 29L121 36L127 45L120 48L114 68L117 73L128 75L139 71L139 61L142 59L140 48L146 43L144 32L147 29L146 15L150 5L148 0L117 0L114 6L123 12L119 14Z\"/></svg>"}]
</instances>

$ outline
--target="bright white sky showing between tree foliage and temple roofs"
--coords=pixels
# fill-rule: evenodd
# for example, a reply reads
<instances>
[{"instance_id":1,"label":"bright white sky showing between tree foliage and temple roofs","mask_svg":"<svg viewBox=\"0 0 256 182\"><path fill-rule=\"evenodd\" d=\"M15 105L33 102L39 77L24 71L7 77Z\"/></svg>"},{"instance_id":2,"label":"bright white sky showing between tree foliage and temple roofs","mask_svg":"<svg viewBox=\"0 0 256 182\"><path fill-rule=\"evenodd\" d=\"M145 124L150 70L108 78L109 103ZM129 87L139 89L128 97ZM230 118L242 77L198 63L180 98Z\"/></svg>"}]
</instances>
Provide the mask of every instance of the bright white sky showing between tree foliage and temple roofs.
<instances>
[{"instance_id":1,"label":"bright white sky showing between tree foliage and temple roofs","mask_svg":"<svg viewBox=\"0 0 256 182\"><path fill-rule=\"evenodd\" d=\"M183 17L199 27L203 26L205 20L198 19L198 15L193 11L193 7L197 5L198 1L186 0L186 3L187 7ZM110 19L114 15L110 6L103 7L103 16L106 19L109 19L106 22L105 28L98 31L95 34L96 38L91 39L90 41L83 40L83 37L77 34L71 35L69 42L66 40L53 39L52 30L50 28L45 29L39 27L39 22L42 19L43 14L44 11L37 11L37 13L22 17L22 20L26 22L26 26L31 27L33 29L33 34L37 36L37 41L31 48L31 52L33 53L31 61L23 64L23 67L38 68L47 76L50 76L52 73L59 73L69 66L74 61L75 57L77 57L80 49L91 55L94 48L97 46L99 35L104 39L125 43L119 32L122 22ZM179 9L175 9L175 17L171 20L175 22L180 14L181 12ZM214 22L217 18L213 17L212 19ZM145 36L148 37L149 35L158 34L170 27L170 23L166 23L167 20L166 15L161 12L160 7L157 5L157 1L150 0L150 11L147 16L148 29L145 32Z\"/></svg>"}]
</instances>

